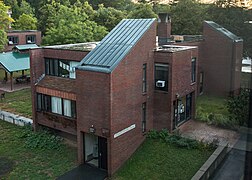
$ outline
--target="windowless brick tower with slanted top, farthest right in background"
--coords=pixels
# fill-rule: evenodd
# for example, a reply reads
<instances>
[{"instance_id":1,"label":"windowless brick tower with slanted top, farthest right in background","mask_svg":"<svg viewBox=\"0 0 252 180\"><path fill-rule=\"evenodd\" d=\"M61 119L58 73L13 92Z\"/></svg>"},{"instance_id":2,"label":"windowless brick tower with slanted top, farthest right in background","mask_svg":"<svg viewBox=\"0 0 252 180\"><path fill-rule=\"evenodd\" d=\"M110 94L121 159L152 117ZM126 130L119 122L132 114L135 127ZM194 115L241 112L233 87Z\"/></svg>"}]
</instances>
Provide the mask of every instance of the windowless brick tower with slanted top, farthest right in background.
<instances>
[{"instance_id":1,"label":"windowless brick tower with slanted top, farthest right in background","mask_svg":"<svg viewBox=\"0 0 252 180\"><path fill-rule=\"evenodd\" d=\"M203 36L200 66L205 75L204 93L229 95L240 87L242 42L233 42L206 23Z\"/></svg>"}]
</instances>

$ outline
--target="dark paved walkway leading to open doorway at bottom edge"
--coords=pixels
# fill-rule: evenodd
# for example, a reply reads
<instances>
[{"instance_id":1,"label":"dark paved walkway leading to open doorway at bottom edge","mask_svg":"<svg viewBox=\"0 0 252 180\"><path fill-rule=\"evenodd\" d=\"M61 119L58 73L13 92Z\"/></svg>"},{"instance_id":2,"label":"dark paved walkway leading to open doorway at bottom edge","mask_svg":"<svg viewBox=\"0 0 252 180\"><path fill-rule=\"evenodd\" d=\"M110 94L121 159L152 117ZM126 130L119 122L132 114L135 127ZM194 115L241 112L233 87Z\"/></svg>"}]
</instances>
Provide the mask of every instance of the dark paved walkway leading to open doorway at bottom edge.
<instances>
[{"instance_id":1,"label":"dark paved walkway leading to open doorway at bottom edge","mask_svg":"<svg viewBox=\"0 0 252 180\"><path fill-rule=\"evenodd\" d=\"M82 164L60 176L57 180L104 180L106 177L106 171L87 164Z\"/></svg>"}]
</instances>

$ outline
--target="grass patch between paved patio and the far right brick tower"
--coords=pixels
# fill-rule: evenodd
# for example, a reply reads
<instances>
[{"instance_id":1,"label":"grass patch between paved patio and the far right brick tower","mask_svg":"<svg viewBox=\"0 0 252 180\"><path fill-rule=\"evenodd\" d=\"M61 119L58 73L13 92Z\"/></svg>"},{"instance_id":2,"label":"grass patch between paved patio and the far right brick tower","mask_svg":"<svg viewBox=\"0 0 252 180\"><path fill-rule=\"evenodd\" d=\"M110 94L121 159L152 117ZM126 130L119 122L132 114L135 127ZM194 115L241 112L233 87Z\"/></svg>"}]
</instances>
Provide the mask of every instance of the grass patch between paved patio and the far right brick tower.
<instances>
[{"instance_id":1,"label":"grass patch between paved patio and the far right brick tower","mask_svg":"<svg viewBox=\"0 0 252 180\"><path fill-rule=\"evenodd\" d=\"M197 97L196 108L205 113L228 115L226 99L223 97L201 95Z\"/></svg>"}]
</instances>

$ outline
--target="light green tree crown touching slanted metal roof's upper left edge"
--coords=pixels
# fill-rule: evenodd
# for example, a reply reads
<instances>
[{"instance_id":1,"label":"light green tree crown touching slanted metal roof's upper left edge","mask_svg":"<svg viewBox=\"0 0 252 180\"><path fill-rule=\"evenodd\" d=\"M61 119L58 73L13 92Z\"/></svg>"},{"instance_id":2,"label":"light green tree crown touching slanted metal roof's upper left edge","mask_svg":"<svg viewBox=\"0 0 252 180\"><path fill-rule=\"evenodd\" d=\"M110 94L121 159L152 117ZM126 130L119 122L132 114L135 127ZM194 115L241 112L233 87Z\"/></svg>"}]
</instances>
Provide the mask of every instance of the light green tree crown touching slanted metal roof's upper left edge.
<instances>
[{"instance_id":1,"label":"light green tree crown touching slanted metal roof's upper left edge","mask_svg":"<svg viewBox=\"0 0 252 180\"><path fill-rule=\"evenodd\" d=\"M125 17L125 12L116 10L112 7L105 8L101 4L99 5L94 20L97 24L105 26L107 30L110 31Z\"/></svg>"}]
</instances>

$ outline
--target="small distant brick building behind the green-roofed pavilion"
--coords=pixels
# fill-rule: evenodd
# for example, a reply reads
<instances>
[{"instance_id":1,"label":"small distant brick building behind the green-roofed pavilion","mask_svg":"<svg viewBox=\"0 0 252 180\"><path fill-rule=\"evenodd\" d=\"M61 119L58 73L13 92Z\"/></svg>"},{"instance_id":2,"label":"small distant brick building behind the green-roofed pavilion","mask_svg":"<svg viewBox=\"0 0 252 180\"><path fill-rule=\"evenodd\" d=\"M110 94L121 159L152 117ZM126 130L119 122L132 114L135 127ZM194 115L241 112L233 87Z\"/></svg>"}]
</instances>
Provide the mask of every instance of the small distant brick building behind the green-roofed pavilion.
<instances>
[{"instance_id":1,"label":"small distant brick building behind the green-roofed pavilion","mask_svg":"<svg viewBox=\"0 0 252 180\"><path fill-rule=\"evenodd\" d=\"M17 45L41 44L41 32L36 30L9 30L7 32L8 44L4 51L12 51Z\"/></svg>"}]
</instances>

